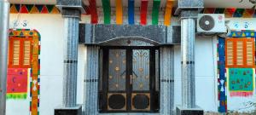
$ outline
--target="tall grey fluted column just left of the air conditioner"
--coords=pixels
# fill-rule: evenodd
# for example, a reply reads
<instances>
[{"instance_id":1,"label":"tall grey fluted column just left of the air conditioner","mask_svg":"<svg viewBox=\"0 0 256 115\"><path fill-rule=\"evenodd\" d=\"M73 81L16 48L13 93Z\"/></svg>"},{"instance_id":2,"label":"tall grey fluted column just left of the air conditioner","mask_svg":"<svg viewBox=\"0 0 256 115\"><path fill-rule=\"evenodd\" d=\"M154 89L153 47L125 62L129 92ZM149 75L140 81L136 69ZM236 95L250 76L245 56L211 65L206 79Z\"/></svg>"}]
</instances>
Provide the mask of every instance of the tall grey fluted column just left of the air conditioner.
<instances>
[{"instance_id":1,"label":"tall grey fluted column just left of the air conditioner","mask_svg":"<svg viewBox=\"0 0 256 115\"><path fill-rule=\"evenodd\" d=\"M195 108L195 18L197 11L181 12L182 106Z\"/></svg>"}]
</instances>

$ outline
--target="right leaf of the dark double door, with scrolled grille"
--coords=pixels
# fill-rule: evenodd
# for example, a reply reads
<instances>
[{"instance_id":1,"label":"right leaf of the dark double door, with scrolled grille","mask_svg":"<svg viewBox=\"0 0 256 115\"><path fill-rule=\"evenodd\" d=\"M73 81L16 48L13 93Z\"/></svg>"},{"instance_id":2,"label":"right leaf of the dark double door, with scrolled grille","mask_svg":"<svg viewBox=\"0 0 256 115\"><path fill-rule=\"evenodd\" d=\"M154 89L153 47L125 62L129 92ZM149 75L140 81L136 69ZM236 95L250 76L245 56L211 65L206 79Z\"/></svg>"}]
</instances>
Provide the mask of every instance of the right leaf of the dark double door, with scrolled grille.
<instances>
[{"instance_id":1,"label":"right leaf of the dark double door, with scrolled grille","mask_svg":"<svg viewBox=\"0 0 256 115\"><path fill-rule=\"evenodd\" d=\"M131 110L150 111L150 50L132 49Z\"/></svg>"}]
</instances>

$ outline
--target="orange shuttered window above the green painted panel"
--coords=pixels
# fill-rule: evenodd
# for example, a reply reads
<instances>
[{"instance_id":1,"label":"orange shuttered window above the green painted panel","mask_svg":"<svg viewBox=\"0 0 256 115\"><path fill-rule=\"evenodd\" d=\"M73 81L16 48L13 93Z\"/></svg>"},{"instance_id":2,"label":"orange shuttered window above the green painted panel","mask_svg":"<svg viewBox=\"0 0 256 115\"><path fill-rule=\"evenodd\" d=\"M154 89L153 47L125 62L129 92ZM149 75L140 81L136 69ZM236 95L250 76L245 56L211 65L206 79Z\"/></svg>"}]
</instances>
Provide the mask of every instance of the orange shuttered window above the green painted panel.
<instances>
[{"instance_id":1,"label":"orange shuttered window above the green painted panel","mask_svg":"<svg viewBox=\"0 0 256 115\"><path fill-rule=\"evenodd\" d=\"M254 67L254 38L227 38L226 67Z\"/></svg>"}]
</instances>

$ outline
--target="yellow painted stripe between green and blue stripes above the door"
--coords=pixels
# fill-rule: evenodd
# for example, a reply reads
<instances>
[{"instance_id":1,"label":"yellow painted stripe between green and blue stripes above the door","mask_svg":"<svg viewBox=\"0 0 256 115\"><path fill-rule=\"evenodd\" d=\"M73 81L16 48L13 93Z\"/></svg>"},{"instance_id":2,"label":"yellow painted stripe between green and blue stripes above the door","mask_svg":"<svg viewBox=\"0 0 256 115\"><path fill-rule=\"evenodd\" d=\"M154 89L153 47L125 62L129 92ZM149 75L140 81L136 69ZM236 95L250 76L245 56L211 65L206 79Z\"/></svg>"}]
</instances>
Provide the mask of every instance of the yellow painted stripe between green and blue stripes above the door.
<instances>
[{"instance_id":1,"label":"yellow painted stripe between green and blue stripes above the door","mask_svg":"<svg viewBox=\"0 0 256 115\"><path fill-rule=\"evenodd\" d=\"M122 0L116 0L116 24L123 24L123 5Z\"/></svg>"}]
</instances>

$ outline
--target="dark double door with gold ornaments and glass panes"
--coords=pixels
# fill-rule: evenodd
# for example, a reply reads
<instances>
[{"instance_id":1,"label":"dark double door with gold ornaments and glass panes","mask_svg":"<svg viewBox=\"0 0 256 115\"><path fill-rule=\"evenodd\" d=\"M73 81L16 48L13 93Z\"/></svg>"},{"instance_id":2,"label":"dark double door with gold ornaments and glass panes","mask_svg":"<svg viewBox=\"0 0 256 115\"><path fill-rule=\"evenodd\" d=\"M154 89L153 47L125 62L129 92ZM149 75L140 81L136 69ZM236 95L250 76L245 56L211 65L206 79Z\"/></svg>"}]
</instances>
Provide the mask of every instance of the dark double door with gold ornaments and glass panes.
<instances>
[{"instance_id":1,"label":"dark double door with gold ornaments and glass panes","mask_svg":"<svg viewBox=\"0 0 256 115\"><path fill-rule=\"evenodd\" d=\"M101 112L157 112L158 57L152 47L102 48Z\"/></svg>"}]
</instances>

